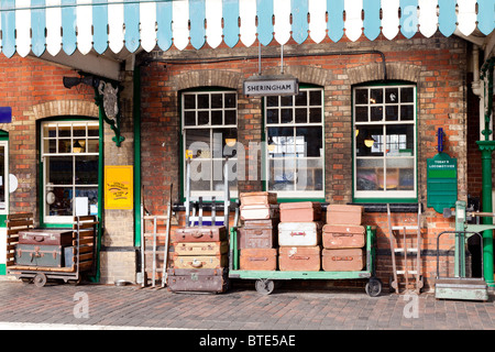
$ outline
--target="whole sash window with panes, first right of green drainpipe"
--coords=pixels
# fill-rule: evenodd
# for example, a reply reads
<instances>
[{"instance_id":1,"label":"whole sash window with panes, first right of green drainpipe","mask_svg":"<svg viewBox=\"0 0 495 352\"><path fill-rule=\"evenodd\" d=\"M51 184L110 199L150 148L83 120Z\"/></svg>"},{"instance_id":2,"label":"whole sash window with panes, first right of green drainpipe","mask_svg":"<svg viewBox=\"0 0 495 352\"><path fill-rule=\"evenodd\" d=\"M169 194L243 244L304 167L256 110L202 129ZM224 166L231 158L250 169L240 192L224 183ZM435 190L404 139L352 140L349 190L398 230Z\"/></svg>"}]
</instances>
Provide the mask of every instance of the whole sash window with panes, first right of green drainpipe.
<instances>
[{"instance_id":1,"label":"whole sash window with panes, first right of green drainpipe","mask_svg":"<svg viewBox=\"0 0 495 352\"><path fill-rule=\"evenodd\" d=\"M238 102L234 91L186 91L182 95L184 183L190 158L194 197L224 195L224 165L229 163L229 190L237 197Z\"/></svg>"}]
</instances>

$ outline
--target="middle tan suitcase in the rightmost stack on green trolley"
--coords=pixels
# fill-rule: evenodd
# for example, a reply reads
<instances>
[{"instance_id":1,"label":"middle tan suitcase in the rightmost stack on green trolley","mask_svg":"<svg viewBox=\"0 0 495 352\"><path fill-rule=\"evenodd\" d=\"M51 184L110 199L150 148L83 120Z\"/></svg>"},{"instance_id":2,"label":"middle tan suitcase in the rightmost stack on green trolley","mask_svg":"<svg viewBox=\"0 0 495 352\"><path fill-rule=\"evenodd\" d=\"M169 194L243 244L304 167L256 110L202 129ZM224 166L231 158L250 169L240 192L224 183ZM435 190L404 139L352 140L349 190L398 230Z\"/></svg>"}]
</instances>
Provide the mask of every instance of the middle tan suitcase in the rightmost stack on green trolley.
<instances>
[{"instance_id":1,"label":"middle tan suitcase in the rightmost stack on green trolley","mask_svg":"<svg viewBox=\"0 0 495 352\"><path fill-rule=\"evenodd\" d=\"M326 224L322 242L324 249L362 249L366 244L362 226Z\"/></svg>"}]
</instances>

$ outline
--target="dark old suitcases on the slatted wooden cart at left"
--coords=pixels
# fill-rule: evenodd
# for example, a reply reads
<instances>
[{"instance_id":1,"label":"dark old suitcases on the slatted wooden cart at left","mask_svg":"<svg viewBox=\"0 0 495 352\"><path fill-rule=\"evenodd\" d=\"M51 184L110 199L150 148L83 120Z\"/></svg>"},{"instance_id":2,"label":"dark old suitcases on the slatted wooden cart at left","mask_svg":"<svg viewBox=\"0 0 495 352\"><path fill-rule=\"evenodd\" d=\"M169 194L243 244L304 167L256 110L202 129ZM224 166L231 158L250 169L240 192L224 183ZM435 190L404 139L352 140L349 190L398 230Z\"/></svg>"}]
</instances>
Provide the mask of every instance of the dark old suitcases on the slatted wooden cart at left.
<instances>
[{"instance_id":1,"label":"dark old suitcases on the slatted wooden cart at left","mask_svg":"<svg viewBox=\"0 0 495 352\"><path fill-rule=\"evenodd\" d=\"M73 231L32 229L19 232L15 264L66 267L74 263Z\"/></svg>"}]
</instances>

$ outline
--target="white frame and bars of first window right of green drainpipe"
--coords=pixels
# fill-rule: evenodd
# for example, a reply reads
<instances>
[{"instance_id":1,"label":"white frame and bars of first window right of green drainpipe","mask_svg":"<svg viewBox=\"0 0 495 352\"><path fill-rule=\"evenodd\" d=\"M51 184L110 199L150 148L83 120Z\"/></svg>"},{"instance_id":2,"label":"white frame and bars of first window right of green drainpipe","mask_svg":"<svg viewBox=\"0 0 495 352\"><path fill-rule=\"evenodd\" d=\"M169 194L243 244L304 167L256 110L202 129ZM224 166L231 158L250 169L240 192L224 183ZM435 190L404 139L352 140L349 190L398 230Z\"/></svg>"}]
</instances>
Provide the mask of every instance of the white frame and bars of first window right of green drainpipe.
<instances>
[{"instance_id":1,"label":"white frame and bars of first window right of green drainpipe","mask_svg":"<svg viewBox=\"0 0 495 352\"><path fill-rule=\"evenodd\" d=\"M224 101L224 96L226 95L234 95L235 96L235 103L233 107L230 108L212 108L211 107L211 95L223 95L223 100ZM209 108L200 108L198 107L198 96L200 95L207 95L209 96ZM186 96L196 96L196 106L194 109L186 109ZM186 187L186 183L187 183L187 173L186 173L186 154L187 154L187 146L186 146L186 141L187 141L187 131L188 130L209 130L210 131L210 147L212 147L212 142L213 142L213 130L216 129L235 129L238 130L238 94L235 90L227 90L227 89L220 89L220 90L187 90L187 91L183 91L182 96L180 96L180 102L182 102L182 139L183 139L183 151L182 151L182 160L183 160L183 182L184 182L184 187ZM186 111L195 111L196 112L196 124L194 125L187 125L186 124ZM197 112L209 112L209 123L208 124L198 124L198 113ZM212 124L211 123L211 112L212 111L222 111L222 124ZM233 111L235 113L235 123L231 123L231 124L226 124L226 111ZM238 136L239 138L239 136ZM239 145L239 144L238 144ZM224 190L213 190L213 182L216 180L215 178L218 178L220 173L221 175L223 175L223 161L226 160L226 157L221 156L221 157L216 157L216 155L211 155L213 154L213 151L209 151L210 152L210 157L208 157L209 160L211 160L212 162L212 167L211 167L211 173L210 173L210 190L190 190L190 196L196 199L198 197L202 197L204 200L211 200L212 197L216 197L216 199L223 199L226 193ZM229 163L237 163L238 162L238 157L230 157L229 158ZM238 165L238 169L239 169L239 165ZM232 179L231 177L233 177L232 175L229 176L229 179ZM223 176L222 176L223 178ZM235 179L237 182L238 179ZM224 183L222 182L222 185L224 185ZM238 197L238 189L232 189L230 188L230 197L231 198L237 198Z\"/></svg>"}]
</instances>

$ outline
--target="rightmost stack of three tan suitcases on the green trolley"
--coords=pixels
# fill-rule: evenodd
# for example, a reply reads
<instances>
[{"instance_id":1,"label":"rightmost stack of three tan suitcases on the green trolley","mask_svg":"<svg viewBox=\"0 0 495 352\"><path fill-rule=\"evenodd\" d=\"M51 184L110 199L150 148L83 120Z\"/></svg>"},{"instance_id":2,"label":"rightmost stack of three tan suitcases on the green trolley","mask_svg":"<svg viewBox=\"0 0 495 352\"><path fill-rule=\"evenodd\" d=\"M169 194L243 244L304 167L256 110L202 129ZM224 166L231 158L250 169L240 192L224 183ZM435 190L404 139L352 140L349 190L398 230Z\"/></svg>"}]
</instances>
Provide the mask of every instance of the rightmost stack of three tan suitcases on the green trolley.
<instances>
[{"instance_id":1,"label":"rightmost stack of three tan suitcases on the green trolley","mask_svg":"<svg viewBox=\"0 0 495 352\"><path fill-rule=\"evenodd\" d=\"M364 267L366 244L363 207L328 206L321 262L327 272L355 272Z\"/></svg>"}]
</instances>

